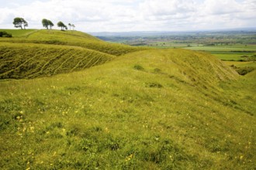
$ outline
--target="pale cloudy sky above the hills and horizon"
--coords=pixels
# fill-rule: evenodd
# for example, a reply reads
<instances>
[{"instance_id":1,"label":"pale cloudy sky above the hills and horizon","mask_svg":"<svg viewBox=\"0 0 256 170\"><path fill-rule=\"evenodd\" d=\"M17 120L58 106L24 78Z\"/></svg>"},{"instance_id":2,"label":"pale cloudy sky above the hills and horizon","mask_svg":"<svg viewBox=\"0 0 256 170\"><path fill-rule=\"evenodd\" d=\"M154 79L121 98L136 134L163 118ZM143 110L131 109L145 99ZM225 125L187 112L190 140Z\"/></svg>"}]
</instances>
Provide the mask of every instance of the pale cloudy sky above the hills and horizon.
<instances>
[{"instance_id":1,"label":"pale cloudy sky above the hills and horizon","mask_svg":"<svg viewBox=\"0 0 256 170\"><path fill-rule=\"evenodd\" d=\"M44 18L84 32L234 29L256 27L256 0L0 0L0 29L15 17L29 29Z\"/></svg>"}]
</instances>

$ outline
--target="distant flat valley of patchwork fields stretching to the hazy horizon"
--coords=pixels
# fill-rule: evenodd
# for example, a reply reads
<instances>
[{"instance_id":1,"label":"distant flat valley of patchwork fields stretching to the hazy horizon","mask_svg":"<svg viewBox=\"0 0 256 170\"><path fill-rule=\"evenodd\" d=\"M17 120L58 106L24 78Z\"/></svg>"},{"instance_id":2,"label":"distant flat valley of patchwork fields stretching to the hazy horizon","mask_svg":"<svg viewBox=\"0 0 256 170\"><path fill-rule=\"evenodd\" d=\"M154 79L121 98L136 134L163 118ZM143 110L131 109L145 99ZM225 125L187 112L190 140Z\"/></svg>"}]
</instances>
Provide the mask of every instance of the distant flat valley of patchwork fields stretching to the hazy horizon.
<instances>
[{"instance_id":1,"label":"distant flat valley of patchwork fields stretching to the hazy horizon","mask_svg":"<svg viewBox=\"0 0 256 170\"><path fill-rule=\"evenodd\" d=\"M222 60L255 60L253 58L248 59L242 57L251 57L256 54L256 32L254 31L163 32L161 35L126 35L101 35L100 37L104 40L126 43L131 46L148 46L157 49L182 48L205 51Z\"/></svg>"}]
</instances>

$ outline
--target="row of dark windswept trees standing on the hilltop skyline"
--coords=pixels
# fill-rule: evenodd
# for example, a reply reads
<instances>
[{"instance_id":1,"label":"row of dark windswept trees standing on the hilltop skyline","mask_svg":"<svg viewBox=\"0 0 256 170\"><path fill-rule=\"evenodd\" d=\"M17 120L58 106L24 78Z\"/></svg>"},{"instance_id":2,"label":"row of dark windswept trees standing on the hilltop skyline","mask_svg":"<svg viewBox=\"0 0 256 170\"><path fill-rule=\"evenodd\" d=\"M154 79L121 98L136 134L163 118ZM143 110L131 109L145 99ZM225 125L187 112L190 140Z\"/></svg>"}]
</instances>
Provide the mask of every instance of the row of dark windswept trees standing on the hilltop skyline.
<instances>
[{"instance_id":1,"label":"row of dark windswept trees standing on the hilltop skyline","mask_svg":"<svg viewBox=\"0 0 256 170\"><path fill-rule=\"evenodd\" d=\"M16 17L15 19L13 19L13 25L16 28L20 28L20 29L26 29L27 26L29 26L28 22L26 22L25 19L22 19L20 17ZM42 25L43 27L45 27L46 29L51 29L54 26L54 23L51 22L49 19L42 19ZM63 22L57 22L57 26L61 27L61 30L64 31L64 29L67 30L67 26L64 25ZM68 23L69 28L71 29L71 27L74 30L74 24Z\"/></svg>"}]
</instances>

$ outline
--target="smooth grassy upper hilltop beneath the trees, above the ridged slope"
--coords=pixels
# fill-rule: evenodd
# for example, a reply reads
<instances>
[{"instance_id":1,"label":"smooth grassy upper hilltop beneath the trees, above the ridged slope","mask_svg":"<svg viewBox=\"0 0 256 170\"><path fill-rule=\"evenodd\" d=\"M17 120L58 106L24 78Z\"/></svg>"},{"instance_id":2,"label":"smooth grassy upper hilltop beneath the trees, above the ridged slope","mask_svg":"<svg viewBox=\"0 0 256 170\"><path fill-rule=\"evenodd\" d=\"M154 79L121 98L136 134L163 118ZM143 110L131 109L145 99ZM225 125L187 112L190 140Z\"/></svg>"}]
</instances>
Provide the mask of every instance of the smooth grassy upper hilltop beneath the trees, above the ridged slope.
<instances>
[{"instance_id":1,"label":"smooth grassy upper hilltop beneath the trees, above the ridged slope","mask_svg":"<svg viewBox=\"0 0 256 170\"><path fill-rule=\"evenodd\" d=\"M6 31L8 32L8 30ZM24 30L25 32L25 30ZM22 35L22 30L19 30ZM25 33L24 33L25 34ZM114 56L120 56L126 53L145 49L140 47L126 46L116 43L104 42L100 39L90 36L84 32L78 31L60 31L60 30L37 30L30 32L26 37L13 39L0 39L0 42L19 42L19 43L40 43L66 46L81 46L86 49L93 49L101 53L107 53Z\"/></svg>"}]
</instances>

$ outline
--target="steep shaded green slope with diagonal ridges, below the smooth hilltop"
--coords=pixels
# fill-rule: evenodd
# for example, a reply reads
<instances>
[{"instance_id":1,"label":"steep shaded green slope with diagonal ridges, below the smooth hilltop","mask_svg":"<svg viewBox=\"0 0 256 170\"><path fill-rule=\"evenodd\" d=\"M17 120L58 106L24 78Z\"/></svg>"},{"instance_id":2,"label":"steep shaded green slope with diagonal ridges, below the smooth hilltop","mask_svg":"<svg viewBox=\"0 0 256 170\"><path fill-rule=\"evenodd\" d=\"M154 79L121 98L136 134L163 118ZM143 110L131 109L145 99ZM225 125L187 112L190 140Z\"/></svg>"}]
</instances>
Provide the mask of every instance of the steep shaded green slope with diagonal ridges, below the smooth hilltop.
<instances>
[{"instance_id":1,"label":"steep shaded green slope with diagonal ridges, below the smooth hilltop","mask_svg":"<svg viewBox=\"0 0 256 170\"><path fill-rule=\"evenodd\" d=\"M0 79L71 73L106 63L115 56L76 46L0 43Z\"/></svg>"}]
</instances>

